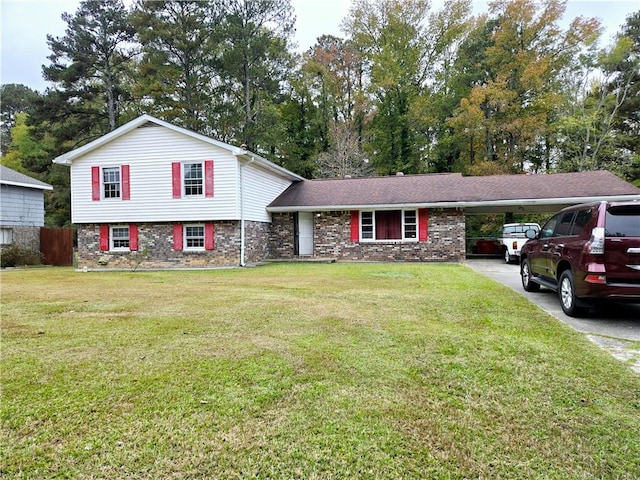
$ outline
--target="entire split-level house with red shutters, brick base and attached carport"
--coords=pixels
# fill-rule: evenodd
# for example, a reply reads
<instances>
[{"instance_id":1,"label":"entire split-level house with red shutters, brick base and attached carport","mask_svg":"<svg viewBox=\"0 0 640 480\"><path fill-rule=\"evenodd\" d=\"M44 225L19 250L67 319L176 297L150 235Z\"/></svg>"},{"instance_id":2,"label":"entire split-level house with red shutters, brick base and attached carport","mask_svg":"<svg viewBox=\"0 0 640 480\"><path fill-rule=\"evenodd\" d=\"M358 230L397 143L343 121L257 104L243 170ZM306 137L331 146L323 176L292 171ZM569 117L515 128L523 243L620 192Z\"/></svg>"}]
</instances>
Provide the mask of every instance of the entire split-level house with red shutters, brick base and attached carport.
<instances>
[{"instance_id":1,"label":"entire split-level house with red shutters, brick base and attached carport","mask_svg":"<svg viewBox=\"0 0 640 480\"><path fill-rule=\"evenodd\" d=\"M71 167L78 263L88 268L461 261L467 215L640 201L640 189L605 171L305 180L148 115L54 161Z\"/></svg>"}]
</instances>

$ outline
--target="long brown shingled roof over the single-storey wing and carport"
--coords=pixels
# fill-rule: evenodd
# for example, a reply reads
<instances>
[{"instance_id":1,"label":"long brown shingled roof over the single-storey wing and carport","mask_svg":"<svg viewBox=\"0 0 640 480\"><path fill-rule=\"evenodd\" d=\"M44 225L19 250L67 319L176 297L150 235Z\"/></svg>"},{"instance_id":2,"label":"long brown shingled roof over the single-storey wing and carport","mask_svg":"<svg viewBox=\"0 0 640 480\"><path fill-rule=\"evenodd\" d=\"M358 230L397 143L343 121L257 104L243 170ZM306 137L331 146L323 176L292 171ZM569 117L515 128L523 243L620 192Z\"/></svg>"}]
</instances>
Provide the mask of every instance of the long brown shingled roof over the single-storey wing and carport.
<instances>
[{"instance_id":1,"label":"long brown shingled roof over the single-storey wing and carport","mask_svg":"<svg viewBox=\"0 0 640 480\"><path fill-rule=\"evenodd\" d=\"M474 203L640 195L640 188L610 172L494 175L463 177L459 173L402 175L292 184L270 205L271 211L296 207L366 207L437 203ZM640 198L640 197L639 197Z\"/></svg>"}]
</instances>

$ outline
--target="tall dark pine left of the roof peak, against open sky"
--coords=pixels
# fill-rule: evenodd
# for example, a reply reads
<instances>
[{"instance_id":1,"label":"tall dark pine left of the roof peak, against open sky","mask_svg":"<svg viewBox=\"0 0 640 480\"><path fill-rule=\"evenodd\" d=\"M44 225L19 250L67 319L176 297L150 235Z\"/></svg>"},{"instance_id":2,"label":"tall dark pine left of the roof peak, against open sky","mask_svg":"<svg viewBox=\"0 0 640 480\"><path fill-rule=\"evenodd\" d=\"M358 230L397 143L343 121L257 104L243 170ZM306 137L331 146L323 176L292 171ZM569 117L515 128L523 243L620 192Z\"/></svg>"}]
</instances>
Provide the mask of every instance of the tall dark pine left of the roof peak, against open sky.
<instances>
[{"instance_id":1,"label":"tall dark pine left of the roof peak, against open sky","mask_svg":"<svg viewBox=\"0 0 640 480\"><path fill-rule=\"evenodd\" d=\"M136 53L128 12L122 0L84 0L75 15L62 18L65 35L47 36L51 64L43 73L54 87L39 116L64 120L67 127L75 123L72 133L81 132L82 138L114 130L129 97L125 72Z\"/></svg>"}]
</instances>

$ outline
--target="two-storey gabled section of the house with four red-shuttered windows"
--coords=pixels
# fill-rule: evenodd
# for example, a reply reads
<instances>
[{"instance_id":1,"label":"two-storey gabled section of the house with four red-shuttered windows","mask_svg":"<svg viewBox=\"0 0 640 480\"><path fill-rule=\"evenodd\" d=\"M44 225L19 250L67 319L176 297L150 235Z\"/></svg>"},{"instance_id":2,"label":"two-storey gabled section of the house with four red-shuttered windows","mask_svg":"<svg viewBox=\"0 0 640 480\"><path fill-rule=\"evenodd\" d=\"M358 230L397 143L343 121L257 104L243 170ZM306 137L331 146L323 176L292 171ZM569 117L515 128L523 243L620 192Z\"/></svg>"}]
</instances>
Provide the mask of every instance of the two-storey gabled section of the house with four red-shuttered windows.
<instances>
[{"instance_id":1,"label":"two-storey gabled section of the house with four red-shuttered windows","mask_svg":"<svg viewBox=\"0 0 640 480\"><path fill-rule=\"evenodd\" d=\"M71 168L79 266L244 265L268 256L266 206L302 177L149 115L54 159ZM134 253L135 252L135 253Z\"/></svg>"}]
</instances>

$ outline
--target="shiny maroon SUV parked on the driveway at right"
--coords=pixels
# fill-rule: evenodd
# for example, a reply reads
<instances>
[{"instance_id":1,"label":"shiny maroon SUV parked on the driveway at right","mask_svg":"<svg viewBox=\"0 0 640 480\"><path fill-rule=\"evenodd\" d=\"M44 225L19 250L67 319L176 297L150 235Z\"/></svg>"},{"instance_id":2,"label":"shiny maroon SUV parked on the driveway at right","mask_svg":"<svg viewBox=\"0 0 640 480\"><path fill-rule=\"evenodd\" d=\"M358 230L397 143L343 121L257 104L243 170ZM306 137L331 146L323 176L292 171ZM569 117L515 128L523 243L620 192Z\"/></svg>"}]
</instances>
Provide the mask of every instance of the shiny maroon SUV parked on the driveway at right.
<instances>
[{"instance_id":1,"label":"shiny maroon SUV parked on the driveway at right","mask_svg":"<svg viewBox=\"0 0 640 480\"><path fill-rule=\"evenodd\" d=\"M565 208L520 254L522 286L556 290L562 310L579 316L596 300L640 302L640 202Z\"/></svg>"}]
</instances>

